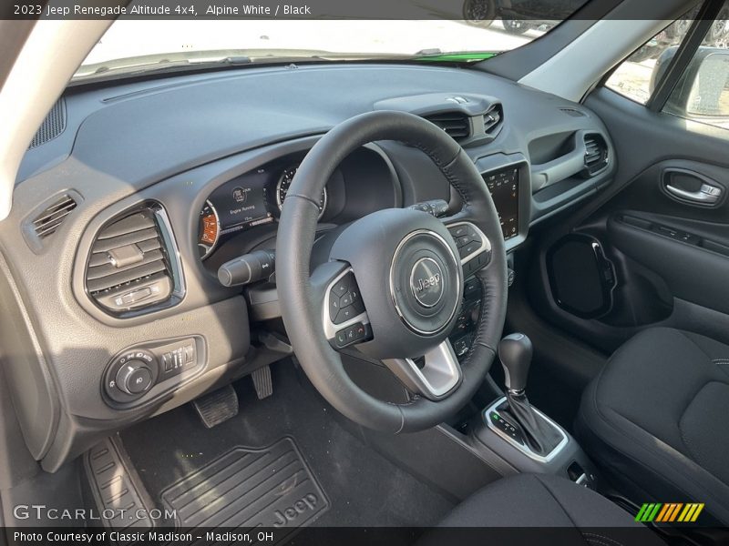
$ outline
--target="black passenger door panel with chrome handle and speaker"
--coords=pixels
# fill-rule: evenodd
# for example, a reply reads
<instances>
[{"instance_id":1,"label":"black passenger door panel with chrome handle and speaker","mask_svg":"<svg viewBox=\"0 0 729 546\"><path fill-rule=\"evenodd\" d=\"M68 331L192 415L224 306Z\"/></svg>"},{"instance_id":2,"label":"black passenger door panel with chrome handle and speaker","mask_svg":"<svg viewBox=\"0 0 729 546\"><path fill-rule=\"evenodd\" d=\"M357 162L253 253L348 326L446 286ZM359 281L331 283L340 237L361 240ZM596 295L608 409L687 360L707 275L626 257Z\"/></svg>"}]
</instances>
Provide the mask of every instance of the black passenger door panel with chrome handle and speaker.
<instances>
[{"instance_id":1,"label":"black passenger door panel with chrome handle and speaker","mask_svg":"<svg viewBox=\"0 0 729 546\"><path fill-rule=\"evenodd\" d=\"M586 106L608 127L616 178L589 209L540 234L529 272L532 305L544 319L607 352L659 325L729 343L729 132L694 131L691 122L607 89L589 96ZM580 317L555 289L599 289L597 278L585 278L595 275L585 268L561 267L562 277L554 278L550 257L575 233L601 249L610 264L602 270L611 268L603 277L614 275L610 308L597 317ZM604 290L605 278L601 283Z\"/></svg>"}]
</instances>

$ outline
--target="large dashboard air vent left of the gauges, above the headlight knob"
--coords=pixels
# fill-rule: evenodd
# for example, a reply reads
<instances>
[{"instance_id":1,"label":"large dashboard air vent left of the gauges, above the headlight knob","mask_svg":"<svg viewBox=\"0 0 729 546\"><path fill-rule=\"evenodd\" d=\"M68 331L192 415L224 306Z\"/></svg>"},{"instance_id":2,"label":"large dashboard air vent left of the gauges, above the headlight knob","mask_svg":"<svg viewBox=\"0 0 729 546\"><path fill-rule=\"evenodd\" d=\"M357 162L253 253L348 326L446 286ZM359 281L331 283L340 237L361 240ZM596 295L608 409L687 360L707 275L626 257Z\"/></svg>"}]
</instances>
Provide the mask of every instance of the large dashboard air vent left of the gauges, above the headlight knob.
<instances>
[{"instance_id":1,"label":"large dashboard air vent left of the gauges, above the headlight knob","mask_svg":"<svg viewBox=\"0 0 729 546\"><path fill-rule=\"evenodd\" d=\"M180 264L166 215L146 205L102 228L86 269L87 293L117 314L154 310L179 301Z\"/></svg>"}]
</instances>

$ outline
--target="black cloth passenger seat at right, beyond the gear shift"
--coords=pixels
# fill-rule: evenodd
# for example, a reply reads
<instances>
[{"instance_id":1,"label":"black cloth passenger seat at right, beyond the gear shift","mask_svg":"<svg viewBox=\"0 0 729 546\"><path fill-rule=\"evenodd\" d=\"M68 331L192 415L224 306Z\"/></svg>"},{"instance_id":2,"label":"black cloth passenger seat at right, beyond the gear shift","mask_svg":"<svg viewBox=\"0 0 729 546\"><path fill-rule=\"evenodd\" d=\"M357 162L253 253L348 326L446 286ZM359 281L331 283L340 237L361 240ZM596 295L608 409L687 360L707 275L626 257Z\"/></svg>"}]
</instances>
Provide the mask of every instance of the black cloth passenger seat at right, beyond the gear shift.
<instances>
[{"instance_id":1,"label":"black cloth passenger seat at right, beyond the gear shift","mask_svg":"<svg viewBox=\"0 0 729 546\"><path fill-rule=\"evenodd\" d=\"M626 342L585 390L575 429L616 487L642 502L704 502L729 525L729 347L677 329Z\"/></svg>"}]
</instances>

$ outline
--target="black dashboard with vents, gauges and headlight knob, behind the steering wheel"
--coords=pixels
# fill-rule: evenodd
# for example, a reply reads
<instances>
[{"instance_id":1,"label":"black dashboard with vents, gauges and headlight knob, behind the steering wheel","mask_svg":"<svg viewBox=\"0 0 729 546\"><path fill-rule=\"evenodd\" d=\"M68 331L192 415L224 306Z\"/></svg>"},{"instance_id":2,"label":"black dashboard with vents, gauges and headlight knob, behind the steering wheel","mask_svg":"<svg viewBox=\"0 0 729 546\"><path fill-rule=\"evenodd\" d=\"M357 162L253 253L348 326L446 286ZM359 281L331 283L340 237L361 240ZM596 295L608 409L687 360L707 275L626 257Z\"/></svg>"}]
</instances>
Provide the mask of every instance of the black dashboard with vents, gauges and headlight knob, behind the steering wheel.
<instances>
[{"instance_id":1,"label":"black dashboard with vents, gauges and headlight knob, behind the steering wheel","mask_svg":"<svg viewBox=\"0 0 729 546\"><path fill-rule=\"evenodd\" d=\"M5 373L46 470L291 354L275 276L241 289L217 271L275 248L296 168L345 119L396 109L457 123L509 252L615 167L588 108L477 69L250 66L76 87L59 105L60 130L27 150L0 224ZM416 147L366 144L327 181L319 230L432 201L462 205ZM454 334L466 349L467 315Z\"/></svg>"}]
</instances>

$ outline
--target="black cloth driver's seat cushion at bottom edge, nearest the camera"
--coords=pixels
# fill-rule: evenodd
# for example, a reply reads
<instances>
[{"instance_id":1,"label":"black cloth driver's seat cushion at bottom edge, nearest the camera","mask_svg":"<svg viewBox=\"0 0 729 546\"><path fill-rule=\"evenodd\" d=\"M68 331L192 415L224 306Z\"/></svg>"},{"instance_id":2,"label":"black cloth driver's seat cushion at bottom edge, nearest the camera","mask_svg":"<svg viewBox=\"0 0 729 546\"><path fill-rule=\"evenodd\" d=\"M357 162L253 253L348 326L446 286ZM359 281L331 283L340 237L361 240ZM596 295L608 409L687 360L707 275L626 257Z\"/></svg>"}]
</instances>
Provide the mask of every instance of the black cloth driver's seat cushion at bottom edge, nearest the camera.
<instances>
[{"instance_id":1,"label":"black cloth driver's seat cushion at bottom edge, nearest the camera","mask_svg":"<svg viewBox=\"0 0 729 546\"><path fill-rule=\"evenodd\" d=\"M444 544L446 539L449 543L457 539L457 543L482 545L489 535L467 531L462 536L453 534L453 528L477 527L509 528L503 538L519 544L664 544L628 512L592 490L550 474L518 474L474 493L440 522L442 531L428 532L418 546ZM560 529L549 534L530 528ZM521 535L515 530L521 530ZM490 536L494 540L491 543L498 543L498 534Z\"/></svg>"}]
</instances>

